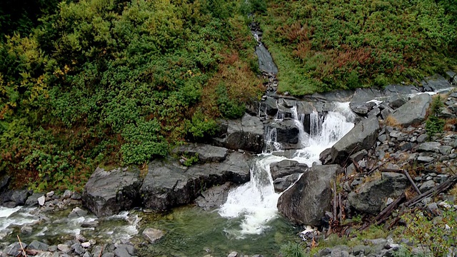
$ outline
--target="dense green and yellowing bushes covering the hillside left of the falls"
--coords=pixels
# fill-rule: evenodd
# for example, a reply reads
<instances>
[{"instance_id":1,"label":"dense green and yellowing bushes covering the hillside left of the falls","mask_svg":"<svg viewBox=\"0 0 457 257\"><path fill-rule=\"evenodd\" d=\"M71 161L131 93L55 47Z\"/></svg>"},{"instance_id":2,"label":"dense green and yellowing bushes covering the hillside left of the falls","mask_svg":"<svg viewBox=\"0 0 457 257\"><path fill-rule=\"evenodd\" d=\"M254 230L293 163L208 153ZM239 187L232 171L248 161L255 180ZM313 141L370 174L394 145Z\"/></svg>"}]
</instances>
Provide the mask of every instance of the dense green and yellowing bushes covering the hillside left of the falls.
<instances>
[{"instance_id":1,"label":"dense green and yellowing bushes covering the hillside left of the falls","mask_svg":"<svg viewBox=\"0 0 457 257\"><path fill-rule=\"evenodd\" d=\"M96 165L146 163L239 116L214 107L239 112L261 92L242 2L64 1L31 34L11 32L0 45L0 173L80 188L75 176Z\"/></svg>"}]
</instances>

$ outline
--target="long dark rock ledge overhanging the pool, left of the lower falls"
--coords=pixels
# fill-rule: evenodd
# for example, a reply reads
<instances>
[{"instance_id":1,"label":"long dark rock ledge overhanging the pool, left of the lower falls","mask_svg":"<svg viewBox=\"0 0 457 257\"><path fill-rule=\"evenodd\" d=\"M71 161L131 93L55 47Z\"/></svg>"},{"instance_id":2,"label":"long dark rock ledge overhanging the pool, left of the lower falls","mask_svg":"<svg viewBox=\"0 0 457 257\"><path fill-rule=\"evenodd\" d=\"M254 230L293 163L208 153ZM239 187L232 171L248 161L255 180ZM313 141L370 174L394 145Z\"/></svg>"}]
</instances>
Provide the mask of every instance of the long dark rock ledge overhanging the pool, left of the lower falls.
<instances>
[{"instance_id":1,"label":"long dark rock ledge overhanging the pool, left of the lower falls","mask_svg":"<svg viewBox=\"0 0 457 257\"><path fill-rule=\"evenodd\" d=\"M191 203L211 186L248 180L248 155L238 152L230 153L224 162L198 164L188 169L173 161L152 161L140 193L146 208L165 210Z\"/></svg>"}]
</instances>

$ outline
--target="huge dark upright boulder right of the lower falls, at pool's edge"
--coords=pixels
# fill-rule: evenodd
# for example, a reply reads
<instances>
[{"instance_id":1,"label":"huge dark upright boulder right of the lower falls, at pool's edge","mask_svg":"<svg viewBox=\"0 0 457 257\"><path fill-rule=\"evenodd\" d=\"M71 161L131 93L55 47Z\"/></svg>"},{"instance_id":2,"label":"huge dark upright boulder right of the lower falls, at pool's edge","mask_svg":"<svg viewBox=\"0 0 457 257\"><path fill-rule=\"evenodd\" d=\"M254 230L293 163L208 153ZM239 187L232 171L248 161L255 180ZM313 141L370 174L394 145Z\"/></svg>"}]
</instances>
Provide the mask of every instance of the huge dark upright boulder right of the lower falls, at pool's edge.
<instances>
[{"instance_id":1,"label":"huge dark upright boulder right of the lower falls, at pool's edge","mask_svg":"<svg viewBox=\"0 0 457 257\"><path fill-rule=\"evenodd\" d=\"M278 200L281 215L293 223L320 226L331 207L331 180L342 173L338 165L313 166Z\"/></svg>"}]
</instances>

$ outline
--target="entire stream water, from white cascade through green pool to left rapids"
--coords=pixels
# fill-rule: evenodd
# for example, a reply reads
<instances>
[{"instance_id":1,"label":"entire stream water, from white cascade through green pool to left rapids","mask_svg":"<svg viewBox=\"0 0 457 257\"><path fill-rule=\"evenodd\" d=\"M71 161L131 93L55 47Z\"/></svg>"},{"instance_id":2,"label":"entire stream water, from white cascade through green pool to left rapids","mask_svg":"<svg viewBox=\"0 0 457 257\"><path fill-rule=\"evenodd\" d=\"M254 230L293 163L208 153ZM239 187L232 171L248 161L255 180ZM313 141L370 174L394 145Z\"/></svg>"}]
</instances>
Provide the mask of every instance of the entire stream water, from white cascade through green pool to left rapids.
<instances>
[{"instance_id":1,"label":"entire stream water, from white cascade through green pool to left rapids","mask_svg":"<svg viewBox=\"0 0 457 257\"><path fill-rule=\"evenodd\" d=\"M56 213L44 213L37 208L0 207L0 241L16 241L24 224L33 224L31 235L21 239L36 239L48 244L63 243L76 235L97 242L139 243L139 232L146 227L159 228L166 234L154 245L142 245L139 256L226 256L231 251L244 254L275 256L284 243L296 238L295 228L278 216L276 203L280 196L273 188L271 163L290 159L308 166L320 164L319 154L331 147L353 128L354 115L348 104L335 104L325 115L298 114L296 107L280 111L272 122L293 119L299 130L299 142L293 156L281 156L283 146L276 141L276 130L266 127L265 149L256 156L251 168L251 181L235 188L218 210L204 211L195 206L176 208L169 213L144 213L133 210L109 218L96 219L88 214L68 218L71 208ZM309 128L303 128L309 119ZM309 131L306 133L305 131ZM99 221L96 228L82 228L82 223Z\"/></svg>"}]
</instances>

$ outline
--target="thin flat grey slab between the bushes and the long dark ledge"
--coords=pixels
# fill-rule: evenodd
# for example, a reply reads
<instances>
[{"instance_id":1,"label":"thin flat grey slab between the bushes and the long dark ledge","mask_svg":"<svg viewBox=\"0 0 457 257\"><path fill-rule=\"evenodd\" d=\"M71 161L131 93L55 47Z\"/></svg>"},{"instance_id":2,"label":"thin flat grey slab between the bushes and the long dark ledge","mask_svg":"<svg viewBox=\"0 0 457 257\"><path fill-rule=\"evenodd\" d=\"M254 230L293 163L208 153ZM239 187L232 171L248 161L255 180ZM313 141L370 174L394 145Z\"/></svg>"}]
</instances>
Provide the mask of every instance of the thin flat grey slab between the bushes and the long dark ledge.
<instances>
[{"instance_id":1,"label":"thin flat grey slab between the bushes and the long dark ledge","mask_svg":"<svg viewBox=\"0 0 457 257\"><path fill-rule=\"evenodd\" d=\"M173 152L184 156L198 156L201 163L224 161L227 148L211 146L203 143L190 143L176 147Z\"/></svg>"}]
</instances>

